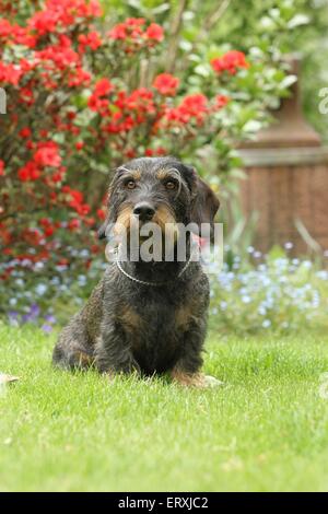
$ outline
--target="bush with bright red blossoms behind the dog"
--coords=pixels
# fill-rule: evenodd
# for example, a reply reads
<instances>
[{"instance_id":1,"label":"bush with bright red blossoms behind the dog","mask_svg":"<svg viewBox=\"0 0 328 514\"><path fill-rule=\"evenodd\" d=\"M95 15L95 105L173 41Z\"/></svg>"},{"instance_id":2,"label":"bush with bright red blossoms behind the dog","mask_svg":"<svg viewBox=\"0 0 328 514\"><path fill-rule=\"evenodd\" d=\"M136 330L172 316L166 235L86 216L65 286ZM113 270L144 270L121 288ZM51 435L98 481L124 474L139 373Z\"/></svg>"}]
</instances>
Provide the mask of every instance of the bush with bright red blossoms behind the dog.
<instances>
[{"instance_id":1,"label":"bush with bright red blossoms behind the dog","mask_svg":"<svg viewBox=\"0 0 328 514\"><path fill-rule=\"evenodd\" d=\"M156 23L129 17L104 30L97 0L38 4L0 5L8 98L0 115L0 280L7 289L23 280L12 306L33 300L24 291L35 276L48 285L57 277L52 289L42 288L54 299L65 270L73 282L90 267L99 250L90 231L104 218L108 174L118 163L165 153L191 161L223 127L234 132L222 112L238 83L227 90L220 75L234 81L249 67L244 54L229 51L211 61L203 91L179 91L179 79L161 69L144 77L141 63L155 61L165 37Z\"/></svg>"}]
</instances>

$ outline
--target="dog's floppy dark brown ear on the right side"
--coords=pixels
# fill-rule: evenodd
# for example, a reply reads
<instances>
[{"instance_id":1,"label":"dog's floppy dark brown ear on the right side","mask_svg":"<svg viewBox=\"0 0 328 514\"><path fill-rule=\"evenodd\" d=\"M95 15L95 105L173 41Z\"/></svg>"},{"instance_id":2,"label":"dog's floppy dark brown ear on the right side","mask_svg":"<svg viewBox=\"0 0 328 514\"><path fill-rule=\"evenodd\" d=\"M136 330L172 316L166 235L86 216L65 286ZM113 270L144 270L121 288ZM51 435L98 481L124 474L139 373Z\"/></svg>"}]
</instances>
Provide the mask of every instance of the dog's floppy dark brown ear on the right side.
<instances>
[{"instance_id":1,"label":"dog's floppy dark brown ear on the right side","mask_svg":"<svg viewBox=\"0 0 328 514\"><path fill-rule=\"evenodd\" d=\"M207 183L199 177L195 171L195 187L191 208L191 222L201 225L201 223L214 223L215 214L220 207L220 201L214 191Z\"/></svg>"}]
</instances>

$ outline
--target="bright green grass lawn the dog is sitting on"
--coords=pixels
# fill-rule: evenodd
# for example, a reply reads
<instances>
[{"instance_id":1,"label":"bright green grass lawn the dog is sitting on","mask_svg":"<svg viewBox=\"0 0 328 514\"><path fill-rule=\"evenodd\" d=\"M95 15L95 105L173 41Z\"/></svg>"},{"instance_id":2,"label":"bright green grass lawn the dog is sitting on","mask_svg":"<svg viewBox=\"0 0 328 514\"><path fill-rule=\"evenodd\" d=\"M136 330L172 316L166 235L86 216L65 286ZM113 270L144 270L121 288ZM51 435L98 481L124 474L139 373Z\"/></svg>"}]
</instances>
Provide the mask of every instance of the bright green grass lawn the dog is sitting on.
<instances>
[{"instance_id":1,"label":"bright green grass lawn the dog is sitting on","mask_svg":"<svg viewBox=\"0 0 328 514\"><path fill-rule=\"evenodd\" d=\"M1 491L328 490L328 336L210 336L225 386L52 370L55 336L0 326Z\"/></svg>"}]
</instances>

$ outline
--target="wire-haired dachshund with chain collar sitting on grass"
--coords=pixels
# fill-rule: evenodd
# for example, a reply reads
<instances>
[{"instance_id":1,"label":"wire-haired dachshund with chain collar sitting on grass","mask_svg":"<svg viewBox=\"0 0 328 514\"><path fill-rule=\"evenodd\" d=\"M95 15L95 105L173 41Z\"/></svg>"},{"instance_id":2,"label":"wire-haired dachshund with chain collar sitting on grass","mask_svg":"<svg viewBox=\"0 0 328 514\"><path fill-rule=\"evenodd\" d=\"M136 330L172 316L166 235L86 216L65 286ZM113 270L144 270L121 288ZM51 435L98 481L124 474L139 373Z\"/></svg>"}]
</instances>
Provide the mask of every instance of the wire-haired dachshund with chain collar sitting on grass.
<instances>
[{"instance_id":1,"label":"wire-haired dachshund with chain collar sitting on grass","mask_svg":"<svg viewBox=\"0 0 328 514\"><path fill-rule=\"evenodd\" d=\"M220 202L192 166L175 157L141 157L119 166L109 186L107 214L98 231L127 232L136 220L167 225L213 224ZM177 238L173 242L175 247ZM209 281L187 245L185 261L132 260L118 256L85 306L59 336L55 365L95 366L110 377L169 374L185 386L219 384L201 373ZM189 249L188 249L189 248Z\"/></svg>"}]
</instances>

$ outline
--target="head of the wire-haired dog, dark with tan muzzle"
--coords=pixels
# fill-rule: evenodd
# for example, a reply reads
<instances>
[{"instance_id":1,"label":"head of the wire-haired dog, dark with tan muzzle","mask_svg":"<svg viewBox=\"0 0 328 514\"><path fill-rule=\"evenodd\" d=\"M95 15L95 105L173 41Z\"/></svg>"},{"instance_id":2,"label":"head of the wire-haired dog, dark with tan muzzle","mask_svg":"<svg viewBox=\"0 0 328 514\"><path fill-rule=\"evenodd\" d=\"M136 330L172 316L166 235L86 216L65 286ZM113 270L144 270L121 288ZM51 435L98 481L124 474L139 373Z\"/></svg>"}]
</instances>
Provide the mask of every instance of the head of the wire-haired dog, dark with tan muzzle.
<instances>
[{"instance_id":1,"label":"head of the wire-haired dog, dark with tan muzzle","mask_svg":"<svg viewBox=\"0 0 328 514\"><path fill-rule=\"evenodd\" d=\"M167 226L213 224L220 202L192 166L175 157L142 157L119 166L108 195L108 212L98 237L108 225L119 233L136 222Z\"/></svg>"}]
</instances>

